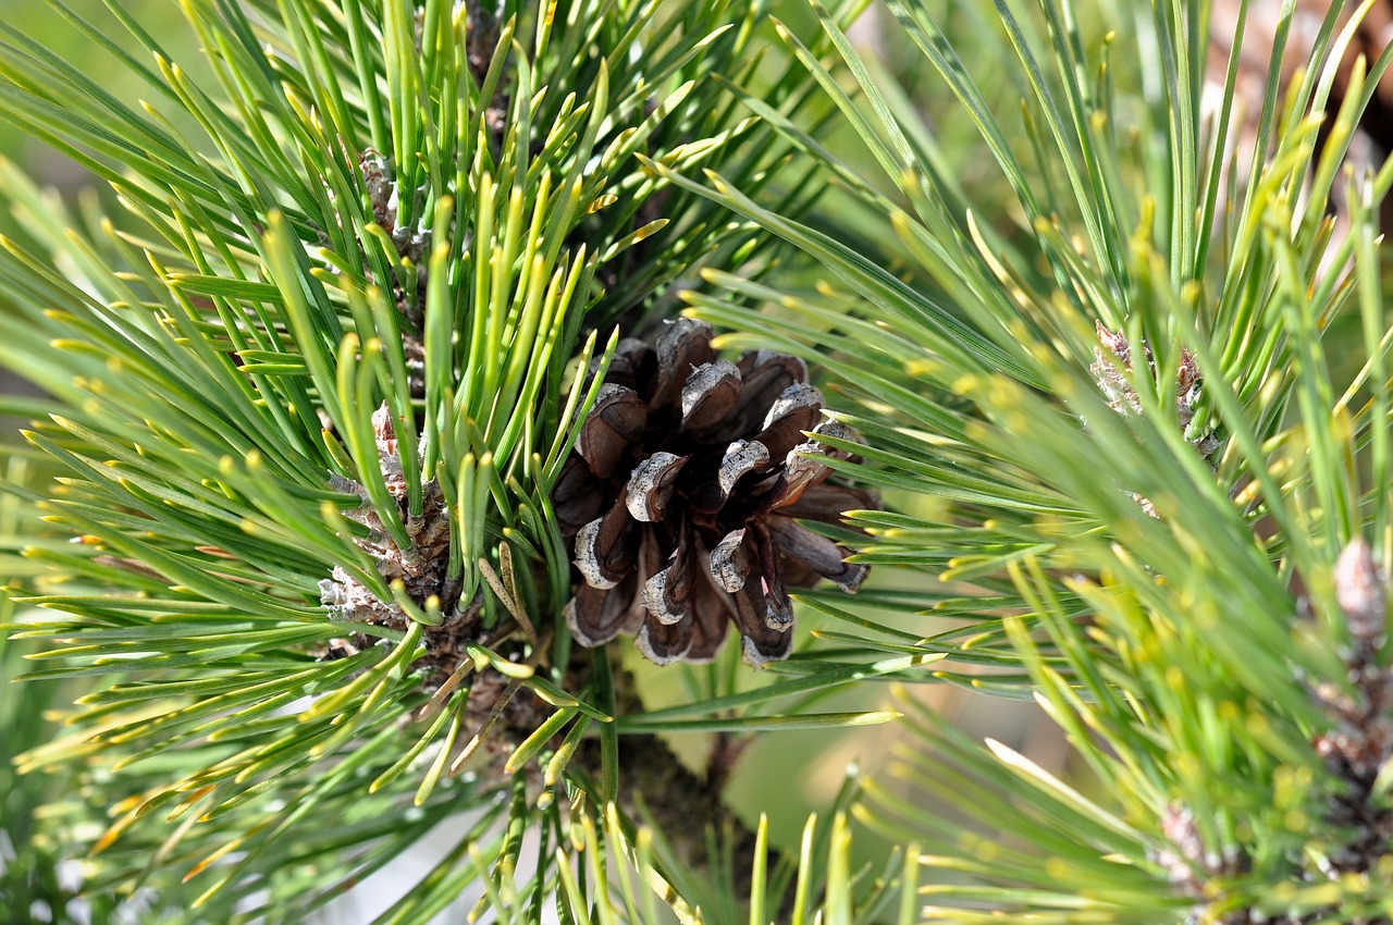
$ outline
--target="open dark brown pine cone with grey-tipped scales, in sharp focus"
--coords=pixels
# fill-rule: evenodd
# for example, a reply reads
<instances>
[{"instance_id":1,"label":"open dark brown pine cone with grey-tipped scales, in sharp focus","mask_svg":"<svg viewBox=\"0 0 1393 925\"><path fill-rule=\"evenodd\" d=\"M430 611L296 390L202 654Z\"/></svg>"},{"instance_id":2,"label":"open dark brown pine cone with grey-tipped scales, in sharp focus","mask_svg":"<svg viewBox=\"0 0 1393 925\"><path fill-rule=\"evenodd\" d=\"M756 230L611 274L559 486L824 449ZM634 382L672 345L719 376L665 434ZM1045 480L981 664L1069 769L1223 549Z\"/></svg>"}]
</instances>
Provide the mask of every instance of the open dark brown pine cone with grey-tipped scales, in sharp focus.
<instances>
[{"instance_id":1,"label":"open dark brown pine cone with grey-tipped scales, in sharp focus","mask_svg":"<svg viewBox=\"0 0 1393 925\"><path fill-rule=\"evenodd\" d=\"M730 623L745 660L787 658L788 588L830 578L855 591L865 566L795 518L836 522L873 507L827 485L816 457L844 450L804 437L853 437L820 421L801 359L716 357L709 326L681 319L656 347L618 344L595 408L552 493L582 578L566 620L585 646L637 634L659 664L715 658ZM819 423L820 421L820 423Z\"/></svg>"}]
</instances>

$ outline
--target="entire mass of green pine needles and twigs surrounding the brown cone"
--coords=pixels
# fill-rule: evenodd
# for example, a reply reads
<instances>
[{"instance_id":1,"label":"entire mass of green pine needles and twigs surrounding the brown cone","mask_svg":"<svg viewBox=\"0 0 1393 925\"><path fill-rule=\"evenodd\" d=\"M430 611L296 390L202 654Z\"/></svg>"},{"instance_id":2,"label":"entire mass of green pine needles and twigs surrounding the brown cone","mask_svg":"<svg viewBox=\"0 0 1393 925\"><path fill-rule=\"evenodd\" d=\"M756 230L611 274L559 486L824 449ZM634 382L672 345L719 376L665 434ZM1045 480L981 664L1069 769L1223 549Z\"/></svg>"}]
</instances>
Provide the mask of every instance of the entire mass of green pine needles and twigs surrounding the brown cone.
<instances>
[{"instance_id":1,"label":"entire mass of green pine needles and twigs surrounding the brown cone","mask_svg":"<svg viewBox=\"0 0 1393 925\"><path fill-rule=\"evenodd\" d=\"M1341 65L1373 3L1294 75L1282 4L1261 100L1241 42L1206 72L1199 0L889 0L882 61L816 3L766 49L759 4L208 0L206 86L113 3L153 67L78 24L139 111L7 33L0 110L124 206L0 177L36 238L0 359L53 396L6 410L61 469L10 486L52 525L13 627L31 687L95 685L18 761L77 783L47 832L96 841L95 896L192 875L169 921L302 921L442 821L379 921L471 886L518 922L1393 919L1393 167L1347 169L1393 52ZM885 508L823 532L880 578L639 713L557 620L549 502L610 330L677 291L820 371L861 435L827 464ZM1081 772L908 688L809 712L886 680L1032 698ZM620 793L621 734L897 713L903 780L850 779L779 864L761 823L690 871ZM901 848L858 868L851 819Z\"/></svg>"}]
</instances>

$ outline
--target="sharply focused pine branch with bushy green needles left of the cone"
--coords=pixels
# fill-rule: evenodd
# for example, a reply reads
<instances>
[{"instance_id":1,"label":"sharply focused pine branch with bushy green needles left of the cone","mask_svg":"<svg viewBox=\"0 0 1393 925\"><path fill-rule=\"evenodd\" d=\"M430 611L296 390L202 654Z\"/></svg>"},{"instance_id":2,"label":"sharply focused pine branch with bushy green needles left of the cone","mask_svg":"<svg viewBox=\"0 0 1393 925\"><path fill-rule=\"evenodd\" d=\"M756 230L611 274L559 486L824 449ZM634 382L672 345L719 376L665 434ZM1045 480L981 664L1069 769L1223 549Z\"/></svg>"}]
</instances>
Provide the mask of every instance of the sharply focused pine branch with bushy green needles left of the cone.
<instances>
[{"instance_id":1,"label":"sharply focused pine branch with bushy green needles left of the cone","mask_svg":"<svg viewBox=\"0 0 1393 925\"><path fill-rule=\"evenodd\" d=\"M787 148L715 75L788 113L805 78L761 74L759 10L724 3L195 3L202 68L118 4L138 56L60 13L152 102L0 42L0 114L121 206L84 235L0 170L33 231L4 241L0 362L54 396L22 410L64 471L28 556L67 581L10 630L49 642L31 678L109 685L20 765L82 763L117 807L92 889L201 875L185 921L308 915L447 808L479 814L461 868L391 917L503 890L614 719L571 671L552 504L613 325L772 258L635 155L779 182ZM489 754L534 790L472 777Z\"/></svg>"}]
</instances>

